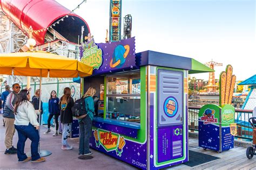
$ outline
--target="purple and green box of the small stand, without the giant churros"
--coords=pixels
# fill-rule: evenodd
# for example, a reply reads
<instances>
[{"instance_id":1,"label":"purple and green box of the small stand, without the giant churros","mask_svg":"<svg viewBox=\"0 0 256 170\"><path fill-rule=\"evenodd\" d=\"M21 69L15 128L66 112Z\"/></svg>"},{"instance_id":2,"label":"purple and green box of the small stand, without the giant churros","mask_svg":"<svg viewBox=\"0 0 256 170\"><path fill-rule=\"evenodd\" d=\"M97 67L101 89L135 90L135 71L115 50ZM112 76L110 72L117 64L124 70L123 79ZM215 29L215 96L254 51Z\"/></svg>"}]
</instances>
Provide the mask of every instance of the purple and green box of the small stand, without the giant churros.
<instances>
[{"instance_id":1,"label":"purple and green box of the small stand, without the giant churros","mask_svg":"<svg viewBox=\"0 0 256 170\"><path fill-rule=\"evenodd\" d=\"M234 109L226 104L223 108L218 105L204 105L198 114L199 146L215 151L230 150L234 147L234 136L230 124L234 123Z\"/></svg>"}]
</instances>

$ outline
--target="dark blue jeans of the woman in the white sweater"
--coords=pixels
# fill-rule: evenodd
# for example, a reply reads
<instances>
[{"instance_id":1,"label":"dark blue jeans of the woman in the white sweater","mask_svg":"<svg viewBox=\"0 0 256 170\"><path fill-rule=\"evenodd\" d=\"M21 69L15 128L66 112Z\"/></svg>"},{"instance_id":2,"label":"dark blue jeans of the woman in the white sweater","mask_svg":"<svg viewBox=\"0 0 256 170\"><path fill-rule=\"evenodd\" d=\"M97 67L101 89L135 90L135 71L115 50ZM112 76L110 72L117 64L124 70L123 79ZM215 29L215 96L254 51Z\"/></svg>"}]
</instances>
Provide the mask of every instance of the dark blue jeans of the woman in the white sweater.
<instances>
[{"instance_id":1,"label":"dark blue jeans of the woman in the white sweater","mask_svg":"<svg viewBox=\"0 0 256 170\"><path fill-rule=\"evenodd\" d=\"M24 147L26 139L31 140L31 158L32 160L37 160L40 158L38 153L38 143L39 143L39 133L38 130L31 124L29 125L15 125L15 129L18 132L18 143L17 143L17 155L18 161L23 161L26 158L24 153Z\"/></svg>"}]
</instances>

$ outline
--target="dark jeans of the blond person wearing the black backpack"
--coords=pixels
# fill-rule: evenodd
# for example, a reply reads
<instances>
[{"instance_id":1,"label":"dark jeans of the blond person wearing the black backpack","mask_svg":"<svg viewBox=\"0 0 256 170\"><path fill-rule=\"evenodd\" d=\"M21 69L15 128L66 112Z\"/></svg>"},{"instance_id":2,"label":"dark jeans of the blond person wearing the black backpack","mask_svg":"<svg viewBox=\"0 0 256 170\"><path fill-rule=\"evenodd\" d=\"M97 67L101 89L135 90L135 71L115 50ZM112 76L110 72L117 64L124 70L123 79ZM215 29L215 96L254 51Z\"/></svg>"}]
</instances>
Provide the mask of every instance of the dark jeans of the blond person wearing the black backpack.
<instances>
[{"instance_id":1,"label":"dark jeans of the blond person wearing the black backpack","mask_svg":"<svg viewBox=\"0 0 256 170\"><path fill-rule=\"evenodd\" d=\"M92 120L87 115L79 122L79 154L89 153L89 140L92 132Z\"/></svg>"}]
</instances>

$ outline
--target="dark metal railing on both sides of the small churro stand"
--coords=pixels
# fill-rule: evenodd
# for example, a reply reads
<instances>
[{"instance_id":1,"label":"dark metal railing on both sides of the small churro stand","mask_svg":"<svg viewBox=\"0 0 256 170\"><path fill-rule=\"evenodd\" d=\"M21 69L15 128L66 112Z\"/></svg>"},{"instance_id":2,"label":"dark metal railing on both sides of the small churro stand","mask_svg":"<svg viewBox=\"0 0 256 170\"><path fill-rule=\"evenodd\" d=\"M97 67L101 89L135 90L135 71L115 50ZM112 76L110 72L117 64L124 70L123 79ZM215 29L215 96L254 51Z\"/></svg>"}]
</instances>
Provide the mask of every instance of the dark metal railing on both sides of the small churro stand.
<instances>
[{"instance_id":1,"label":"dark metal railing on both sides of the small churro stand","mask_svg":"<svg viewBox=\"0 0 256 170\"><path fill-rule=\"evenodd\" d=\"M188 129L198 131L198 113L201 107L188 107ZM252 110L235 109L235 123L237 123L237 138L252 140L252 126L248 119L252 117Z\"/></svg>"}]
</instances>

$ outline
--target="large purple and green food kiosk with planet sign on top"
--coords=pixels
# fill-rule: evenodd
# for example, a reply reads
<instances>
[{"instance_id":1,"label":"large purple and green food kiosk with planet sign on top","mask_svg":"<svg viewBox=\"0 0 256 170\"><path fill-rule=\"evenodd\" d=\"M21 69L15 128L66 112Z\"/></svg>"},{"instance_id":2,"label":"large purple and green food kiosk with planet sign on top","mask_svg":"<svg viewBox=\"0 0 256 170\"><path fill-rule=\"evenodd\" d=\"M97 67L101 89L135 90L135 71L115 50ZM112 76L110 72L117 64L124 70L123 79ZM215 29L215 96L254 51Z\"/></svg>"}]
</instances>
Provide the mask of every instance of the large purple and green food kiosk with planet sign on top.
<instances>
[{"instance_id":1,"label":"large purple and green food kiosk with planet sign on top","mask_svg":"<svg viewBox=\"0 0 256 170\"><path fill-rule=\"evenodd\" d=\"M84 92L99 101L90 147L141 169L188 161L188 72L211 72L200 62L154 51L135 53L134 37L81 50L93 66Z\"/></svg>"}]
</instances>

